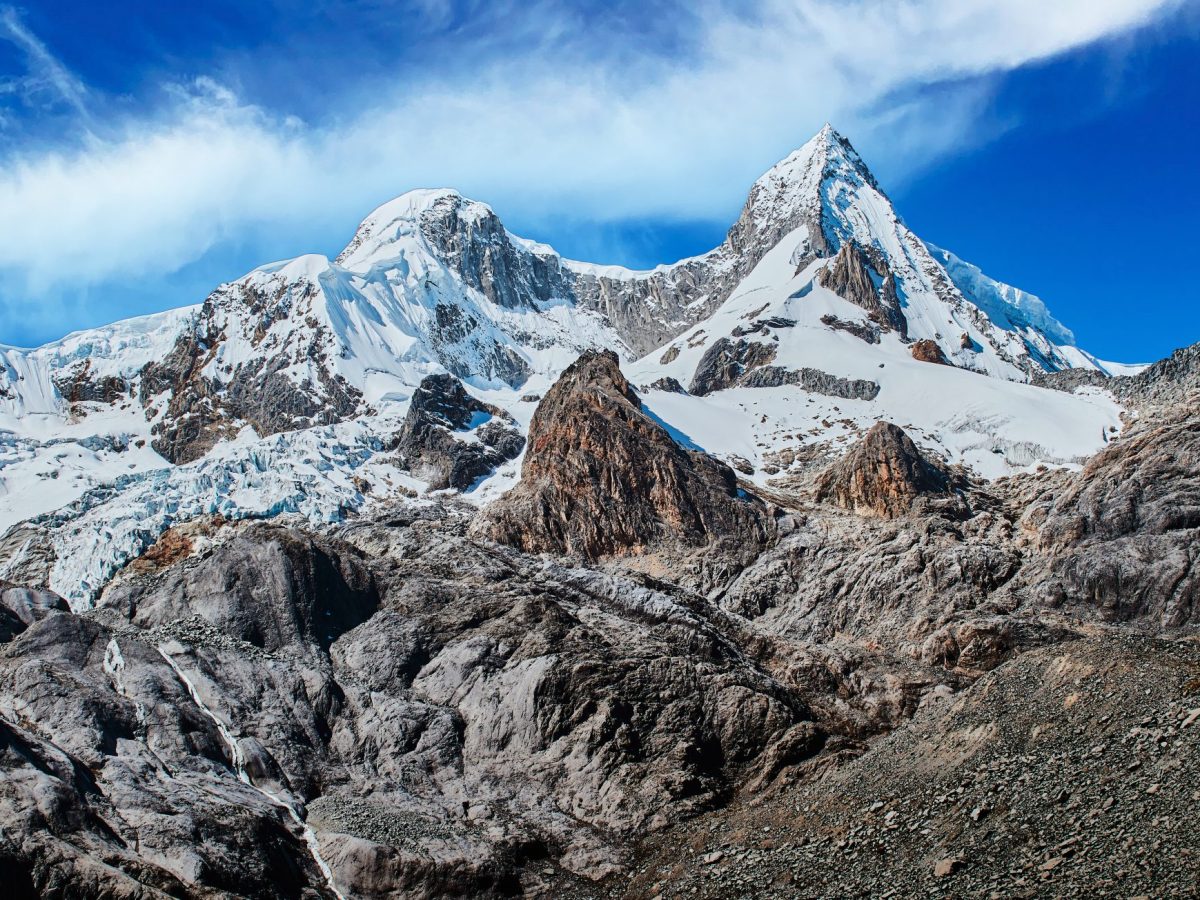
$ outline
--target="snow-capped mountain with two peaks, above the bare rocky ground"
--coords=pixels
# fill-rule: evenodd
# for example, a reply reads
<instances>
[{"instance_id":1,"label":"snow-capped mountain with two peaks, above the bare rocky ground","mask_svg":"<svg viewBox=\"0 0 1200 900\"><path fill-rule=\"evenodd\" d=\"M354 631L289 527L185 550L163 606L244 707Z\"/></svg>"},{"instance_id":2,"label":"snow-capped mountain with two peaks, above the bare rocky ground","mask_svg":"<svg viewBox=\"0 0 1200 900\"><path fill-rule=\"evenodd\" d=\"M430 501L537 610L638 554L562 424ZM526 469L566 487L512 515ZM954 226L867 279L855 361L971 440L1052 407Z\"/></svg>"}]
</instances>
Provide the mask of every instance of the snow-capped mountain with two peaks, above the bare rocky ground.
<instances>
[{"instance_id":1,"label":"snow-capped mountain with two peaks, above the bare rocky ground","mask_svg":"<svg viewBox=\"0 0 1200 900\"><path fill-rule=\"evenodd\" d=\"M1126 371L1076 348L1037 298L922 241L828 126L754 184L719 247L650 271L564 259L482 203L414 191L332 260L0 348L10 565L41 560L82 602L190 517L329 521L419 492L389 442L424 377L458 377L524 428L588 348L614 349L680 440L760 484L878 420L989 476L1073 464L1120 427L1118 406L1027 382ZM520 464L472 497L504 491Z\"/></svg>"}]
</instances>

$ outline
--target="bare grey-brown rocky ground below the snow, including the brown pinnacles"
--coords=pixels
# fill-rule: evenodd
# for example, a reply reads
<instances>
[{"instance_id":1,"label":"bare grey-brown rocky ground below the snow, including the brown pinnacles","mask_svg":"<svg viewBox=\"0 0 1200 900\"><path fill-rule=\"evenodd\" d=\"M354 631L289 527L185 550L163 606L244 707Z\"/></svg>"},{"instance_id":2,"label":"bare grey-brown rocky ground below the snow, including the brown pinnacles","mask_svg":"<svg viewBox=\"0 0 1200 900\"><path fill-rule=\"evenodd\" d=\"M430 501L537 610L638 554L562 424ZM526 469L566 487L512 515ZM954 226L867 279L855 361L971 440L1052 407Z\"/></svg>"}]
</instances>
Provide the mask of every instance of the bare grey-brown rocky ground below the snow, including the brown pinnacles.
<instances>
[{"instance_id":1,"label":"bare grey-brown rocky ground below the snow, including the brown pinnacles","mask_svg":"<svg viewBox=\"0 0 1200 900\"><path fill-rule=\"evenodd\" d=\"M1188 359L1080 473L881 425L749 492L588 353L482 512L197 520L82 612L5 584L6 895L1193 895ZM424 388L409 464L515 452Z\"/></svg>"}]
</instances>

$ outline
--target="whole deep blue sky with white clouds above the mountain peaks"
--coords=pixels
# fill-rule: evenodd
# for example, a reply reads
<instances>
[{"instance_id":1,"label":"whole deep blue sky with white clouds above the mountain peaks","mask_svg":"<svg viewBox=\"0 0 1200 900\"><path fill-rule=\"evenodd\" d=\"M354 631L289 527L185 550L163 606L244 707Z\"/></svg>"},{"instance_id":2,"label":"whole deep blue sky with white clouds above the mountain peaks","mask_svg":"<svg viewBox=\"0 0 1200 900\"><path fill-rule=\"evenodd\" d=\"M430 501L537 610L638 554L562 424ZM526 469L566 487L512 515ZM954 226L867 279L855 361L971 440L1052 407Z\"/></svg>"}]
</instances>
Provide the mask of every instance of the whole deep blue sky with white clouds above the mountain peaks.
<instances>
[{"instance_id":1,"label":"whole deep blue sky with white clouds above the mountain peaks","mask_svg":"<svg viewBox=\"0 0 1200 900\"><path fill-rule=\"evenodd\" d=\"M643 266L832 121L1079 343L1200 340L1198 0L0 0L0 342L197 302L452 186Z\"/></svg>"}]
</instances>

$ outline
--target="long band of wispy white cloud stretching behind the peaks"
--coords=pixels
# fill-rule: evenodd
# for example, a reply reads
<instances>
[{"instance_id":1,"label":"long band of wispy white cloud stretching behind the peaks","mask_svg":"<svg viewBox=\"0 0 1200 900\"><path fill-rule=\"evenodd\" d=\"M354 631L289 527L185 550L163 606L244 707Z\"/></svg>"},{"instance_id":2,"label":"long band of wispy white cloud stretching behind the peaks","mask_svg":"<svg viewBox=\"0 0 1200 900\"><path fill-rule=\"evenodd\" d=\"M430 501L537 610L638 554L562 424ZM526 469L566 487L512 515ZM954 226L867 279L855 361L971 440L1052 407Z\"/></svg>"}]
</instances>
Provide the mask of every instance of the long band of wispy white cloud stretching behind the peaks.
<instances>
[{"instance_id":1,"label":"long band of wispy white cloud stretching behind the peaks","mask_svg":"<svg viewBox=\"0 0 1200 900\"><path fill-rule=\"evenodd\" d=\"M824 120L895 178L978 130L986 92L971 78L1174 6L798 0L752 17L714 6L696 19L703 31L688 59L634 68L599 54L574 65L493 59L445 82L377 88L373 101L319 127L200 79L168 112L125 121L103 140L10 158L0 170L0 270L35 294L162 275L253 229L301 234L296 223L311 222L322 235L323 222L361 217L418 186L452 185L524 222L725 215ZM11 13L0 25L84 113L83 86L61 67L53 74L44 46ZM955 86L929 100L920 89L935 84Z\"/></svg>"}]
</instances>

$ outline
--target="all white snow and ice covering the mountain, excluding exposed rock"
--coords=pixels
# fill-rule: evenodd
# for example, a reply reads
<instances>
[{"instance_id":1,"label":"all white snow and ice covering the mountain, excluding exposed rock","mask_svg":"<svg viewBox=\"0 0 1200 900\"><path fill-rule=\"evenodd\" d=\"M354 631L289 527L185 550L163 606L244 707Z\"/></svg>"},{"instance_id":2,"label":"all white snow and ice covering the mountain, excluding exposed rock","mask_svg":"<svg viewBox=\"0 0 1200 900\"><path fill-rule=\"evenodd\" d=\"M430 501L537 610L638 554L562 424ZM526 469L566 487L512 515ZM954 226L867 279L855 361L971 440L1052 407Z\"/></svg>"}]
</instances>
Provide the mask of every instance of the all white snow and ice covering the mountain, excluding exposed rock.
<instances>
[{"instance_id":1,"label":"all white snow and ice covering the mountain, excluding exposed rock","mask_svg":"<svg viewBox=\"0 0 1200 900\"><path fill-rule=\"evenodd\" d=\"M1038 298L920 241L830 128L755 184L746 210L756 233L786 234L712 317L668 343L678 356L666 365L659 362L665 347L632 359L600 314L570 298L509 308L464 283L421 229L425 216L448 208L472 228L492 229L488 240L508 241L565 275L623 281L696 264L730 271L736 262L727 245L648 271L564 260L548 245L505 232L485 204L451 190L409 192L367 216L335 260L310 254L264 265L208 300L205 328L221 338L203 348L204 378L222 384L238 366L281 362L296 385L324 398L329 376L337 376L362 392L352 421L266 438L244 427L202 460L172 467L151 446L167 397L148 398L144 407L138 378L180 336L204 337L200 307L76 332L36 349L0 346L0 532L26 521L44 529L55 554L50 587L82 608L163 530L190 518L220 512L319 524L368 514L402 490L422 491L396 468L383 442L400 427L426 374L458 373L468 390L508 410L524 431L536 404L521 397L544 395L586 348L616 349L637 385L664 376L686 385L716 340L772 316L796 325L746 340L776 343L774 365L872 380L878 396L851 401L796 386L707 397L644 394L647 408L679 439L749 460L760 482L778 451L812 444L840 451L881 419L989 478L1039 463L1075 466L1120 427L1120 408L1100 390L1068 395L1024 384L1027 372L1141 368L1074 347ZM865 313L816 283L827 259L797 271L820 242L808 224L817 221L835 244L854 240L887 263L911 337L936 341L956 367L914 361L895 334L869 344L822 324L827 313L858 322ZM961 346L964 334L970 349ZM500 358L520 360L528 378L509 384ZM67 403L56 383L79 374L127 379L132 395L113 404ZM520 467L520 458L506 463L466 499L487 503L516 482ZM0 576L17 562L0 560Z\"/></svg>"}]
</instances>

